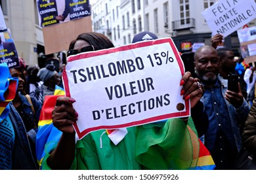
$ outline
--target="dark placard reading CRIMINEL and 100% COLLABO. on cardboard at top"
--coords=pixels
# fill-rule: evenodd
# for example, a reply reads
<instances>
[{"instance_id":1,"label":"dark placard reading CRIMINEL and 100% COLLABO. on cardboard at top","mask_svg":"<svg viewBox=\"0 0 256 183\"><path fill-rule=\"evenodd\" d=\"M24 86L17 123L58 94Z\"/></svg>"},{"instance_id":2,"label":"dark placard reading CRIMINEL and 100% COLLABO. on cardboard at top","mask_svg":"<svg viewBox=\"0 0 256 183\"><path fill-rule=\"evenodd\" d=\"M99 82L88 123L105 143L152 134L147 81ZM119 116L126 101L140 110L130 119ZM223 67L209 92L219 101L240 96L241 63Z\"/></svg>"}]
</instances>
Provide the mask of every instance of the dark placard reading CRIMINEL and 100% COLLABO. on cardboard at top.
<instances>
[{"instance_id":1,"label":"dark placard reading CRIMINEL and 100% COLLABO. on cardboard at top","mask_svg":"<svg viewBox=\"0 0 256 183\"><path fill-rule=\"evenodd\" d=\"M41 27L91 15L89 0L37 0Z\"/></svg>"}]
</instances>

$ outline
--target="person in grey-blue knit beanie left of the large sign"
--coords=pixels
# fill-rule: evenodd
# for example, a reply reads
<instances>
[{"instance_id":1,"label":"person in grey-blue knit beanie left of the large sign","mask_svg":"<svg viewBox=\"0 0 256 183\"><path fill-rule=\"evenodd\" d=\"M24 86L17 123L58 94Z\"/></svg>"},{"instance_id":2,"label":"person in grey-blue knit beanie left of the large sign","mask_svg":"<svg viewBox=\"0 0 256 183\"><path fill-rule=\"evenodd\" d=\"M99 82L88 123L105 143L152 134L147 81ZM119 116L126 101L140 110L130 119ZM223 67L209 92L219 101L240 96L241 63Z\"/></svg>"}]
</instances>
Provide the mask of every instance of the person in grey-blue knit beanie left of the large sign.
<instances>
[{"instance_id":1,"label":"person in grey-blue knit beanie left of the large sign","mask_svg":"<svg viewBox=\"0 0 256 183\"><path fill-rule=\"evenodd\" d=\"M37 76L43 81L42 91L43 99L45 100L45 95L53 95L55 86L59 84L60 77L54 69L53 64L47 64L44 68L40 69Z\"/></svg>"}]
</instances>

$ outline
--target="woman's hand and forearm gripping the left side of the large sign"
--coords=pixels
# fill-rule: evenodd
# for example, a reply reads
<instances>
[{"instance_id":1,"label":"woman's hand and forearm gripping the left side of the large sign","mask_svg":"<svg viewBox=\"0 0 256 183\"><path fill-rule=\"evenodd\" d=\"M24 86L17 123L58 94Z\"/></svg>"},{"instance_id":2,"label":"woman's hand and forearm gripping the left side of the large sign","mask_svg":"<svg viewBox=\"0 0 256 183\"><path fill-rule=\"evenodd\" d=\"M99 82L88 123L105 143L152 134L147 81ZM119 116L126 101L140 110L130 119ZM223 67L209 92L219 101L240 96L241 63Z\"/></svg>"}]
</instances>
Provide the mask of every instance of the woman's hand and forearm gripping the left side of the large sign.
<instances>
[{"instance_id":1,"label":"woman's hand and forearm gripping the left side of the large sign","mask_svg":"<svg viewBox=\"0 0 256 183\"><path fill-rule=\"evenodd\" d=\"M51 169L70 169L75 157L75 131L72 126L77 120L77 112L72 107L75 100L58 97L53 110L53 125L62 131L62 137L55 150L47 159Z\"/></svg>"}]
</instances>

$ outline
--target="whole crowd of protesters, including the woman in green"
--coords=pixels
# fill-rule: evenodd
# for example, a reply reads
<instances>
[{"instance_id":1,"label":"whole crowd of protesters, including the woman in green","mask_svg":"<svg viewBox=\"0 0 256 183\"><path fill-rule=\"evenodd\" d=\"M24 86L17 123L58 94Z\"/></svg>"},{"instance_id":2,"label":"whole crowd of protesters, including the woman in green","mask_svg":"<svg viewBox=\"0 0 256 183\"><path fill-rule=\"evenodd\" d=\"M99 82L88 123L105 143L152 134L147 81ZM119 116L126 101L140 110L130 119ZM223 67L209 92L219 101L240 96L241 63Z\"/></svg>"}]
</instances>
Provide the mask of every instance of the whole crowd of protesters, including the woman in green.
<instances>
[{"instance_id":1,"label":"whole crowd of protesters, including the woman in green","mask_svg":"<svg viewBox=\"0 0 256 183\"><path fill-rule=\"evenodd\" d=\"M155 39L154 33L144 31L135 35L133 43ZM127 127L127 135L117 145L103 129L77 141L73 124L79 114L72 107L75 99L55 97L51 131L59 135L40 147L45 152L40 158L38 144L45 140L37 135L41 130L39 118L49 112L43 111L45 96L54 95L56 86L64 87L61 76L66 65L60 65L57 71L53 64L39 68L26 65L20 58L20 66L7 72L7 65L0 64L0 89L17 82L15 90L8 90L12 92L8 105L0 110L0 169L192 169L196 156L188 150L196 148L192 140L202 142L209 150L214 169L236 169L242 146L256 155L256 69L251 63L245 64L242 57L235 59L230 48L218 48L222 40L218 34L212 37L211 45L198 48L194 53L196 77L186 72L181 78L181 95L191 104L190 118ZM91 46L93 50L85 49ZM68 53L113 47L100 33L83 33L70 42ZM4 77L1 73L9 74ZM228 90L230 75L238 75L236 91ZM5 90L0 92L0 106L4 106ZM188 129L192 130L189 134ZM188 138L192 134L194 139Z\"/></svg>"}]
</instances>

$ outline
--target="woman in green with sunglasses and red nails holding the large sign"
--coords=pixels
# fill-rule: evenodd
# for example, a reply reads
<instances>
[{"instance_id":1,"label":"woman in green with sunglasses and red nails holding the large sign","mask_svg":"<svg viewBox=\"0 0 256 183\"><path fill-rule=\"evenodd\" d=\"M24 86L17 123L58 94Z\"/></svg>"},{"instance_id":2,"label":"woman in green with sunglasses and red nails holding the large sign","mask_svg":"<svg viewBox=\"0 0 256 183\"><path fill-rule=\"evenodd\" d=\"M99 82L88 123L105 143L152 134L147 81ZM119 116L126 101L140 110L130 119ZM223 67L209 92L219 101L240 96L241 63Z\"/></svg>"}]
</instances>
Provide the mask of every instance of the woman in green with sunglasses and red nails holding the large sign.
<instances>
[{"instance_id":1,"label":"woman in green with sunglasses and red nails holding the large sign","mask_svg":"<svg viewBox=\"0 0 256 183\"><path fill-rule=\"evenodd\" d=\"M84 33L70 44L68 54L112 47L114 45L104 35ZM183 99L190 99L191 108L195 107L203 95L200 80L184 73L180 85ZM119 134L122 136L119 141L113 138L112 131L115 130L104 129L76 141L73 124L78 114L72 107L73 103L75 99L71 97L56 100L53 125L62 134L58 142L45 144L42 169L198 169L202 144L192 118L173 118L127 127L126 133ZM213 169L213 162L211 166L208 165L207 169Z\"/></svg>"}]
</instances>

